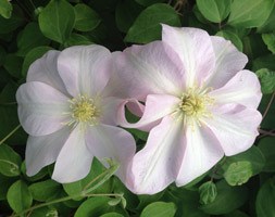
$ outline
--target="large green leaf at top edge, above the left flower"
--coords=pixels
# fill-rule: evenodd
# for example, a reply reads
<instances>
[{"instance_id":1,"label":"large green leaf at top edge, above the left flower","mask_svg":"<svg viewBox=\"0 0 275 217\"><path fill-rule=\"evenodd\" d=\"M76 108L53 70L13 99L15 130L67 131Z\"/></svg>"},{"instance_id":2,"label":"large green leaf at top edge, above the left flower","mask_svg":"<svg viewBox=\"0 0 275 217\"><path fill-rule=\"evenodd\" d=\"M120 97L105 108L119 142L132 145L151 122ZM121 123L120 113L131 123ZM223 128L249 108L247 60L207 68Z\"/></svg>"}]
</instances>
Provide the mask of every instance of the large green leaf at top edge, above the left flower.
<instances>
[{"instance_id":1,"label":"large green leaf at top edge, above the left flower","mask_svg":"<svg viewBox=\"0 0 275 217\"><path fill-rule=\"evenodd\" d=\"M38 21L46 37L64 43L75 24L74 8L65 0L51 0L39 14Z\"/></svg>"}]
</instances>

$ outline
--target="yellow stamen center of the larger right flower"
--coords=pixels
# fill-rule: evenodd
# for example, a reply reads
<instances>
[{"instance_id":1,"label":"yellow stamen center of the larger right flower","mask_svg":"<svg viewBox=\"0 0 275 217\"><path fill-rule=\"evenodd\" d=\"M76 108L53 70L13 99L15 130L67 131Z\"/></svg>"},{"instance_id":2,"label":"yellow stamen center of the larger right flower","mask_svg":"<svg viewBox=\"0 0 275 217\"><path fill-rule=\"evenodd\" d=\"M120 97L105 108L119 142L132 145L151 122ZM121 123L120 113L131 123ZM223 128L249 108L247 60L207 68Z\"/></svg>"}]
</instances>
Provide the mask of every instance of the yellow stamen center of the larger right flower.
<instances>
[{"instance_id":1,"label":"yellow stamen center of the larger right flower","mask_svg":"<svg viewBox=\"0 0 275 217\"><path fill-rule=\"evenodd\" d=\"M200 122L201 117L211 117L209 106L213 105L214 99L210 98L207 92L198 89L189 89L180 98L179 110L184 113L185 119Z\"/></svg>"}]
</instances>

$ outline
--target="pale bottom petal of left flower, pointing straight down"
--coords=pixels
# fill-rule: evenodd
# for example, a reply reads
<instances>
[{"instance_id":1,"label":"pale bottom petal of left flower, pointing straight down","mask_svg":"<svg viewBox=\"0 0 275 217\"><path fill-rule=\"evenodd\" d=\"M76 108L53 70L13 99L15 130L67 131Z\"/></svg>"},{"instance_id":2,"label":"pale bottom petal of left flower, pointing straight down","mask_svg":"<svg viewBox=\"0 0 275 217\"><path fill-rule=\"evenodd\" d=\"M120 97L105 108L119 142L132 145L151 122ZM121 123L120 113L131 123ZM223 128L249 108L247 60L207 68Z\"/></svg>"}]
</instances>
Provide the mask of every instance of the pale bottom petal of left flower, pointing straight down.
<instances>
[{"instance_id":1,"label":"pale bottom petal of left flower, pointing straight down","mask_svg":"<svg viewBox=\"0 0 275 217\"><path fill-rule=\"evenodd\" d=\"M52 174L52 179L67 183L83 179L91 167L92 154L86 146L85 131L78 125L63 145Z\"/></svg>"}]
</instances>

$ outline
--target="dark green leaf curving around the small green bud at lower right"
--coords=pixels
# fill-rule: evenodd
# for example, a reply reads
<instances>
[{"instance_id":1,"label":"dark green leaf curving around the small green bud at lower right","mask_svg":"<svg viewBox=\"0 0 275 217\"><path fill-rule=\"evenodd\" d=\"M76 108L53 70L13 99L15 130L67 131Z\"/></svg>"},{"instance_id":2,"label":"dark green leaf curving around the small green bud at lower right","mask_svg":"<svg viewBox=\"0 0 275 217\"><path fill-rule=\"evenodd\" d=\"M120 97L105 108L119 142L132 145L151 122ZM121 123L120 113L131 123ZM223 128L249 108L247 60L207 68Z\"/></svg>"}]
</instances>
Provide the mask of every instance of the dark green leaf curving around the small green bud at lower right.
<instances>
[{"instance_id":1,"label":"dark green leaf curving around the small green bud at lower right","mask_svg":"<svg viewBox=\"0 0 275 217\"><path fill-rule=\"evenodd\" d=\"M223 215L240 207L248 199L248 190L245 187L230 187L224 180L216 183L216 199L200 208L211 215Z\"/></svg>"}]
</instances>

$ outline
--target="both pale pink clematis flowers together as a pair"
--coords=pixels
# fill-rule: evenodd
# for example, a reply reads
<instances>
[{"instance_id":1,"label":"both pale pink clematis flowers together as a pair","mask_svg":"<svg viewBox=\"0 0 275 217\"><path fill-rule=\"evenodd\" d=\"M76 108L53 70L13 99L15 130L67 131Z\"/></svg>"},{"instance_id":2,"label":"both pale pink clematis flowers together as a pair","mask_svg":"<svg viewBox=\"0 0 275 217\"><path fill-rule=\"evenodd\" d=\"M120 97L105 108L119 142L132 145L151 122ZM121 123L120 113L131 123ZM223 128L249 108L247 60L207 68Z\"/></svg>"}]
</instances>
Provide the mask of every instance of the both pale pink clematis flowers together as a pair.
<instances>
[{"instance_id":1,"label":"both pale pink clematis flowers together as a pair","mask_svg":"<svg viewBox=\"0 0 275 217\"><path fill-rule=\"evenodd\" d=\"M247 61L221 37L166 25L162 41L123 52L50 51L16 94L30 135L27 174L57 162L53 179L75 181L96 156L120 162L116 175L136 193L192 181L258 136L262 93L257 76L242 69ZM139 122L127 122L125 106ZM117 125L149 131L145 148L135 154L133 137Z\"/></svg>"}]
</instances>

